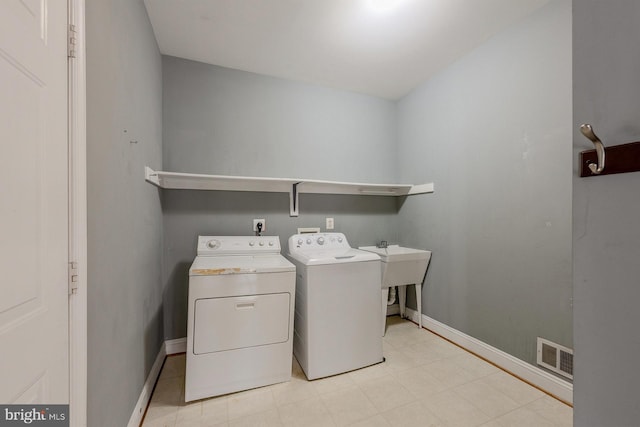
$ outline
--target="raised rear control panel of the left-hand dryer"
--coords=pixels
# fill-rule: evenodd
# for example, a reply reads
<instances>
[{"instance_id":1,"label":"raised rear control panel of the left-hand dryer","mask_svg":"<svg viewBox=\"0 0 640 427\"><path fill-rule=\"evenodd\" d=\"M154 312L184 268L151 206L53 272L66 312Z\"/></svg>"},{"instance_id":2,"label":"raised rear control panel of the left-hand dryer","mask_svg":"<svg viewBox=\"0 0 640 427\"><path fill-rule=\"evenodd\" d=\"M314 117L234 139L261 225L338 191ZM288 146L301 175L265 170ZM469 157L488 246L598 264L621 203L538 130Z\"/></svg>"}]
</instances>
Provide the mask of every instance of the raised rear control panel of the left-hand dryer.
<instances>
[{"instance_id":1,"label":"raised rear control panel of the left-hand dryer","mask_svg":"<svg viewBox=\"0 0 640 427\"><path fill-rule=\"evenodd\" d=\"M280 253L278 236L199 236L198 255Z\"/></svg>"}]
</instances>

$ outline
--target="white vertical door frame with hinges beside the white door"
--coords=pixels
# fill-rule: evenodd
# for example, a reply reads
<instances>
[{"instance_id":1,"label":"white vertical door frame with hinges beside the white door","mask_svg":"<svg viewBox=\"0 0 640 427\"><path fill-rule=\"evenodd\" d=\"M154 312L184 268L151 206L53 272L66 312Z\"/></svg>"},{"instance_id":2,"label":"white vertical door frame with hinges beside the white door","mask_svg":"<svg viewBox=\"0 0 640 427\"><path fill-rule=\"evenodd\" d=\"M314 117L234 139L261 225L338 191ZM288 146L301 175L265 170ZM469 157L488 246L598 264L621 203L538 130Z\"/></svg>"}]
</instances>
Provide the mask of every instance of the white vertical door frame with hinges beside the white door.
<instances>
[{"instance_id":1,"label":"white vertical door frame with hinges beside the white door","mask_svg":"<svg viewBox=\"0 0 640 427\"><path fill-rule=\"evenodd\" d=\"M87 425L87 91L85 0L68 0L75 26L75 58L68 61L69 262L77 289L69 294L70 425ZM71 273L70 278L71 281Z\"/></svg>"}]
</instances>

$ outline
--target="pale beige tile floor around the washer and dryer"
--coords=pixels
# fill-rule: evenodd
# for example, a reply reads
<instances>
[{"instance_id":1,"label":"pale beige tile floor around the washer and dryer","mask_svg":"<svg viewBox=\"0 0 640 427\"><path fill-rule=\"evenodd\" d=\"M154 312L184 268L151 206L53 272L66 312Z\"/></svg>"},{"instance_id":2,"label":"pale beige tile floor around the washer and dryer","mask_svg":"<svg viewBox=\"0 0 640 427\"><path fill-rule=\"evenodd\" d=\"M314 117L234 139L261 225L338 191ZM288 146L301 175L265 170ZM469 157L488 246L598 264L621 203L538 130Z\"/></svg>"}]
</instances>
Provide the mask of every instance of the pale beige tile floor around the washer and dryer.
<instances>
[{"instance_id":1,"label":"pale beige tile floor around the washer and dryer","mask_svg":"<svg viewBox=\"0 0 640 427\"><path fill-rule=\"evenodd\" d=\"M571 426L571 407L399 317L389 317L386 362L184 403L185 356L167 358L143 427Z\"/></svg>"}]
</instances>

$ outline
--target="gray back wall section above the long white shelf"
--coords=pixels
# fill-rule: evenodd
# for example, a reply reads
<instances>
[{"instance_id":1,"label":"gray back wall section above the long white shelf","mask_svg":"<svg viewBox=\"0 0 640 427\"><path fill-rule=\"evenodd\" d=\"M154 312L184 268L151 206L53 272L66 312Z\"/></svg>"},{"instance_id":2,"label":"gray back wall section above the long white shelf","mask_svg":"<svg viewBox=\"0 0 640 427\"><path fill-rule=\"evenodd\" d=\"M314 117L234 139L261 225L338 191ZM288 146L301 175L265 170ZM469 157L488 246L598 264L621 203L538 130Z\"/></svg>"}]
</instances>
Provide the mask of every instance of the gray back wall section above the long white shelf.
<instances>
[{"instance_id":1,"label":"gray back wall section above the long white shelf","mask_svg":"<svg viewBox=\"0 0 640 427\"><path fill-rule=\"evenodd\" d=\"M164 168L395 181L390 101L163 57Z\"/></svg>"}]
</instances>

